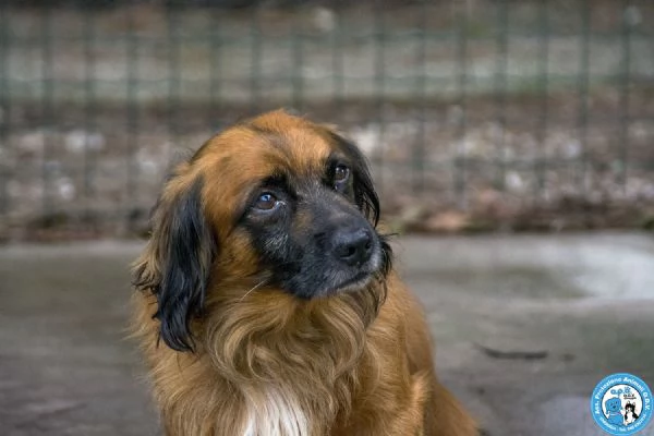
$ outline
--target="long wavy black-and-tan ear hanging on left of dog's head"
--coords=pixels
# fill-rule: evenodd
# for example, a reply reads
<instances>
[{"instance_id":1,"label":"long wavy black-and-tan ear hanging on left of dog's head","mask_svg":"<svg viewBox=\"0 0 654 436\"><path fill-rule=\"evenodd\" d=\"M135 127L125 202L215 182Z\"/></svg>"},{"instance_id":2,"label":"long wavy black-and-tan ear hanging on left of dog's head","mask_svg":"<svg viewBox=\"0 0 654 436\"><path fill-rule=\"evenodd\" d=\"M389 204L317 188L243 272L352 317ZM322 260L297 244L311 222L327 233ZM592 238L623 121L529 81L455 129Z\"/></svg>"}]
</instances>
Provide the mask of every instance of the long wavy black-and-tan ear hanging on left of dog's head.
<instances>
[{"instance_id":1,"label":"long wavy black-and-tan ear hanging on left of dog's head","mask_svg":"<svg viewBox=\"0 0 654 436\"><path fill-rule=\"evenodd\" d=\"M171 179L153 211L150 240L133 268L134 287L157 298L160 338L193 351L191 322L202 314L216 240L202 205L202 178Z\"/></svg>"}]
</instances>

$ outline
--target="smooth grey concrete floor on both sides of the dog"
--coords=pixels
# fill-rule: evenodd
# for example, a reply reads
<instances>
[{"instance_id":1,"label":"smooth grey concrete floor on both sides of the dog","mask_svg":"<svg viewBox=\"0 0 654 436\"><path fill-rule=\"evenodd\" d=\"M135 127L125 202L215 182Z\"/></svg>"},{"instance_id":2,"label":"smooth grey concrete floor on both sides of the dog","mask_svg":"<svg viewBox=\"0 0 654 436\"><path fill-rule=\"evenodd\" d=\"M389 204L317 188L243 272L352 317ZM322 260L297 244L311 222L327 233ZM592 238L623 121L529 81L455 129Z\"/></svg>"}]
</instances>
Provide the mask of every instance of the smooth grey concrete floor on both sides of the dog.
<instances>
[{"instance_id":1,"label":"smooth grey concrete floor on both sides of the dog","mask_svg":"<svg viewBox=\"0 0 654 436\"><path fill-rule=\"evenodd\" d=\"M491 435L603 435L589 411L600 379L629 372L654 387L652 235L413 237L396 246L427 308L444 383ZM0 247L1 435L158 434L124 339L128 265L141 247ZM654 423L640 435L654 435Z\"/></svg>"}]
</instances>

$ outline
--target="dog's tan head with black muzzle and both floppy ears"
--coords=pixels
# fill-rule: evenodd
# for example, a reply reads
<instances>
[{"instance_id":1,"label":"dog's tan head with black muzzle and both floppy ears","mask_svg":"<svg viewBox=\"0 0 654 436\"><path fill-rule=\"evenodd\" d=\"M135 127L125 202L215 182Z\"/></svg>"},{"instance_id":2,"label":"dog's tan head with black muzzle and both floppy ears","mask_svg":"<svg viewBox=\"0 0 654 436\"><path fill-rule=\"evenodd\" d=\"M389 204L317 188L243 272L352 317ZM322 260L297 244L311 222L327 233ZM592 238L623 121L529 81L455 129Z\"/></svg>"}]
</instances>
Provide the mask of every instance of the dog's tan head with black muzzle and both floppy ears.
<instances>
[{"instance_id":1,"label":"dog's tan head with black muzzle and both floppy ears","mask_svg":"<svg viewBox=\"0 0 654 436\"><path fill-rule=\"evenodd\" d=\"M355 293L390 268L379 201L358 148L332 129L266 113L209 140L167 182L135 286L157 298L160 336L191 350L211 292ZM210 296L210 295L209 295Z\"/></svg>"}]
</instances>

